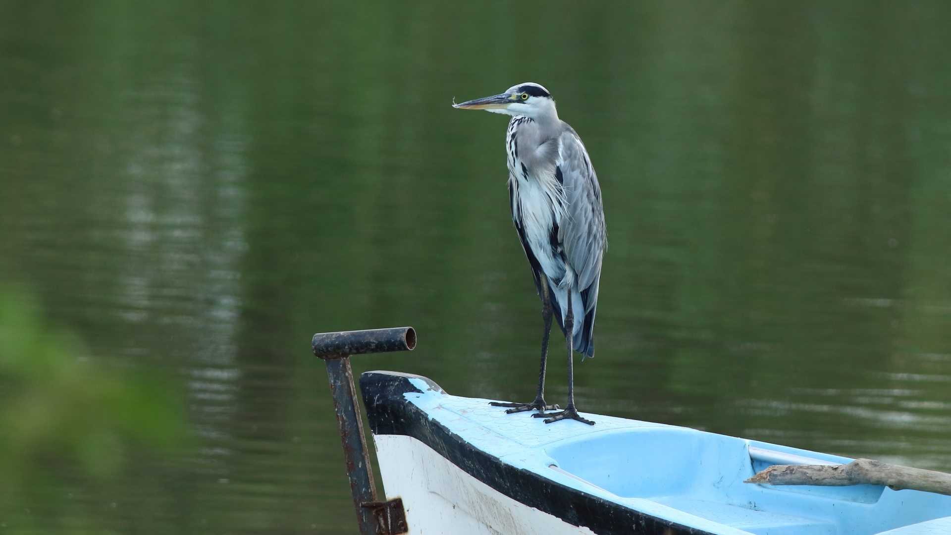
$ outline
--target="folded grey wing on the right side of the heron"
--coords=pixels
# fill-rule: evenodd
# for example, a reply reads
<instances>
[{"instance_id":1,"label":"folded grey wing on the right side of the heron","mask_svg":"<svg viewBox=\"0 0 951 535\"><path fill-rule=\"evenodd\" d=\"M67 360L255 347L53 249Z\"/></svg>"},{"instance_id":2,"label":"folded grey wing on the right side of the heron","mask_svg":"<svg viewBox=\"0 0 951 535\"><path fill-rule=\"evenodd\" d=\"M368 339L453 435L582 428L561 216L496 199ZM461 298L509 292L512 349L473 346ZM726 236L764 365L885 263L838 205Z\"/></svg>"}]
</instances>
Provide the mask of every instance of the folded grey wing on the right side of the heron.
<instances>
[{"instance_id":1,"label":"folded grey wing on the right side of the heron","mask_svg":"<svg viewBox=\"0 0 951 535\"><path fill-rule=\"evenodd\" d=\"M561 134L555 166L555 178L561 182L567 201L558 238L577 277L578 290L592 290L585 303L588 312L597 303L601 258L608 245L608 235L597 175L588 151L571 127Z\"/></svg>"}]
</instances>

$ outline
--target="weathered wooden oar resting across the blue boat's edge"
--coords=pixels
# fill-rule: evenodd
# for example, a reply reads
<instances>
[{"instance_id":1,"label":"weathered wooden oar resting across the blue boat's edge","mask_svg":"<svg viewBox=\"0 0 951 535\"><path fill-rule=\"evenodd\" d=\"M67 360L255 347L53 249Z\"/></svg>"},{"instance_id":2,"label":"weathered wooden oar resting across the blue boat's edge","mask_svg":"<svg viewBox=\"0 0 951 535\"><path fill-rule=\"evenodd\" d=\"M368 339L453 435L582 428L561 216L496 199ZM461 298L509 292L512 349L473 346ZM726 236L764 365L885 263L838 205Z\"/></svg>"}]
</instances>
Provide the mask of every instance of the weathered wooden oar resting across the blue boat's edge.
<instances>
[{"instance_id":1,"label":"weathered wooden oar resting across the blue boat's edge","mask_svg":"<svg viewBox=\"0 0 951 535\"><path fill-rule=\"evenodd\" d=\"M856 459L848 465L776 465L744 483L768 485L887 485L892 490L922 490L951 495L951 474Z\"/></svg>"}]
</instances>

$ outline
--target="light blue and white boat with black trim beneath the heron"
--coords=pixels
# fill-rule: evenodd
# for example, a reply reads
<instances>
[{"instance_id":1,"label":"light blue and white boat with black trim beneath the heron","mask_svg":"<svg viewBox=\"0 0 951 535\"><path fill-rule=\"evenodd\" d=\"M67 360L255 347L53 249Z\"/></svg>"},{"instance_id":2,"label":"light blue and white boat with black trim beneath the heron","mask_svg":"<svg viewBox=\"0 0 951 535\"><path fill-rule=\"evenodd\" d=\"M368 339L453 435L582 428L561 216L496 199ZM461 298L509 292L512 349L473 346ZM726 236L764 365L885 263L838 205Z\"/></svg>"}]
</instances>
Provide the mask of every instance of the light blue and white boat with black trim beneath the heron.
<instances>
[{"instance_id":1,"label":"light blue and white boat with black trim beneath the heron","mask_svg":"<svg viewBox=\"0 0 951 535\"><path fill-rule=\"evenodd\" d=\"M386 499L414 535L951 535L951 496L744 483L844 457L597 414L547 425L394 371L359 385Z\"/></svg>"}]
</instances>

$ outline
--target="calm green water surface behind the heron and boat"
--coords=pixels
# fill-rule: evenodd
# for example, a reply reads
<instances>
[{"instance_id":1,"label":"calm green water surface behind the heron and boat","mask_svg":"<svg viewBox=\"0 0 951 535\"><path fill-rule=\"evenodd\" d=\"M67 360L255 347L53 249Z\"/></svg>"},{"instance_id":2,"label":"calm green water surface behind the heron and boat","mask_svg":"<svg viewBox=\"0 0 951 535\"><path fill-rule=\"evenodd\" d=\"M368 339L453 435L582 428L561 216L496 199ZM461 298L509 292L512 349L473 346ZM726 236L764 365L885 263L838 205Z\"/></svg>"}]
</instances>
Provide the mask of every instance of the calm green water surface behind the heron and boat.
<instances>
[{"instance_id":1,"label":"calm green water surface behind the heron and boat","mask_svg":"<svg viewBox=\"0 0 951 535\"><path fill-rule=\"evenodd\" d=\"M193 436L111 475L37 457L0 523L355 533L314 332L412 325L354 367L529 400L506 121L449 106L525 81L604 191L582 410L951 470L948 28L943 0L0 1L0 278Z\"/></svg>"}]
</instances>

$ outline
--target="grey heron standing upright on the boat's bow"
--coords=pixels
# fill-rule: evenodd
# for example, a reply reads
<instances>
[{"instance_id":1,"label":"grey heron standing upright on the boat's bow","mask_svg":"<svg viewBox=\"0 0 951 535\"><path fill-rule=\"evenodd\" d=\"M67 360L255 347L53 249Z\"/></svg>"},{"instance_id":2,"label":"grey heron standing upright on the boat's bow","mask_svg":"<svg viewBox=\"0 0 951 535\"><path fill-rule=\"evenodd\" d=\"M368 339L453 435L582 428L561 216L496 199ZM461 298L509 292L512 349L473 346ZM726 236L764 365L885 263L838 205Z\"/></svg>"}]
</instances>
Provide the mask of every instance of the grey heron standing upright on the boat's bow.
<instances>
[{"instance_id":1,"label":"grey heron standing upright on the boat's bow","mask_svg":"<svg viewBox=\"0 0 951 535\"><path fill-rule=\"evenodd\" d=\"M573 372L573 351L582 361L594 356L594 312L608 245L601 187L588 150L558 118L548 89L532 82L461 104L454 99L453 107L512 116L505 133L512 221L532 267L545 324L534 401L492 405L511 407L509 413L537 410L533 416L546 418L546 424L577 420L593 426L574 406ZM544 396L553 316L568 345L568 405L546 412L560 408L547 405Z\"/></svg>"}]
</instances>

